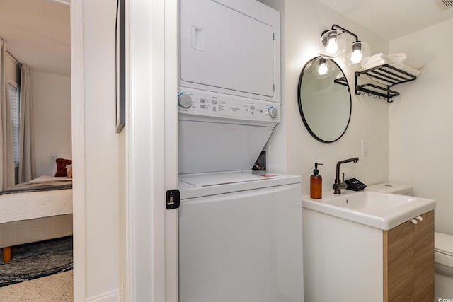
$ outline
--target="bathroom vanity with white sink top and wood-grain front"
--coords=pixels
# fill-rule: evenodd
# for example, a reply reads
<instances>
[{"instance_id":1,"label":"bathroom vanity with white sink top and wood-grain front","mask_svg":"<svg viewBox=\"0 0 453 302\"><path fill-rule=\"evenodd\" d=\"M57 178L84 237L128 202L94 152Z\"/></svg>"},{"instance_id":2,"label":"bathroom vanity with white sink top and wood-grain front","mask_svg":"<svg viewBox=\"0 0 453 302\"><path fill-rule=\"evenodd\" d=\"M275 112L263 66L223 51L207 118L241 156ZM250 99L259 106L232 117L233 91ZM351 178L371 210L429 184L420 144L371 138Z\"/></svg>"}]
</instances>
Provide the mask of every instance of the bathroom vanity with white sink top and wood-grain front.
<instances>
[{"instance_id":1,"label":"bathroom vanity with white sink top and wood-grain front","mask_svg":"<svg viewBox=\"0 0 453 302\"><path fill-rule=\"evenodd\" d=\"M434 300L432 199L323 197L302 197L305 301Z\"/></svg>"}]
</instances>

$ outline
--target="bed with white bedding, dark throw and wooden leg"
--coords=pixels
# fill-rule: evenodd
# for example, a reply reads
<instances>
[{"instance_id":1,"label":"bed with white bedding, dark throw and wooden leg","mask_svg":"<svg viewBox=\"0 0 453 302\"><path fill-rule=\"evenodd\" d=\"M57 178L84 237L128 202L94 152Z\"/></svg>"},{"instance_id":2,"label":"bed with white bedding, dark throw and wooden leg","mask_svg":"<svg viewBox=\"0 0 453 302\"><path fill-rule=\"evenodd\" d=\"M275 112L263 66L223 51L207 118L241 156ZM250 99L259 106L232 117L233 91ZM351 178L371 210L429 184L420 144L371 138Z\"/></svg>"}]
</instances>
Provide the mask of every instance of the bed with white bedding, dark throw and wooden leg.
<instances>
[{"instance_id":1,"label":"bed with white bedding, dark throw and wooden leg","mask_svg":"<svg viewBox=\"0 0 453 302\"><path fill-rule=\"evenodd\" d=\"M0 248L72 235L72 180L43 175L0 192Z\"/></svg>"}]
</instances>

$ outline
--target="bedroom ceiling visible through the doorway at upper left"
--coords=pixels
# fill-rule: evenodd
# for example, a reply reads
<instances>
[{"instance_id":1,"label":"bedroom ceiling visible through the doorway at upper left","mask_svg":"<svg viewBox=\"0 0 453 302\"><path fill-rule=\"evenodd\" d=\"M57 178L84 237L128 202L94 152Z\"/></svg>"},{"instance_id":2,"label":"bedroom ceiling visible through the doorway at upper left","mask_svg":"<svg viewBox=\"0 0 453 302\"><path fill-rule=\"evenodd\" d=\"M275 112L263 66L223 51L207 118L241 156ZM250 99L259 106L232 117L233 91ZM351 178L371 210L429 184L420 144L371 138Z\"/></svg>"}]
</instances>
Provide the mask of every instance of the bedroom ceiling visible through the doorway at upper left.
<instances>
[{"instance_id":1,"label":"bedroom ceiling visible through the doorway at upper left","mask_svg":"<svg viewBox=\"0 0 453 302\"><path fill-rule=\"evenodd\" d=\"M33 71L71 74L71 31L66 0L0 0L0 37Z\"/></svg>"}]
</instances>

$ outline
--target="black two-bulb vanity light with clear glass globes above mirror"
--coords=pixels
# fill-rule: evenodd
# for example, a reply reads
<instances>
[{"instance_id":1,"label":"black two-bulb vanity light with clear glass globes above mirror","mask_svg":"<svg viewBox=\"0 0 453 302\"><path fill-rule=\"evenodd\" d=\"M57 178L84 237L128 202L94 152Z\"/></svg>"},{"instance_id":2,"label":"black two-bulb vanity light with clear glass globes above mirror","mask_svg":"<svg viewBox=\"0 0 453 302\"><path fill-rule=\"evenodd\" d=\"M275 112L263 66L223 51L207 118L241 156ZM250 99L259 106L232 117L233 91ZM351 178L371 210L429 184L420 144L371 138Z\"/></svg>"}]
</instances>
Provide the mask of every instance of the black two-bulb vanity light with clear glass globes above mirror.
<instances>
[{"instance_id":1,"label":"black two-bulb vanity light with clear glass globes above mirror","mask_svg":"<svg viewBox=\"0 0 453 302\"><path fill-rule=\"evenodd\" d=\"M355 42L348 43L345 33L355 37ZM343 54L343 61L347 66L361 64L369 58L369 46L359 40L355 33L342 28L336 24L332 25L331 30L324 30L319 39L319 54L321 57L334 58Z\"/></svg>"}]
</instances>

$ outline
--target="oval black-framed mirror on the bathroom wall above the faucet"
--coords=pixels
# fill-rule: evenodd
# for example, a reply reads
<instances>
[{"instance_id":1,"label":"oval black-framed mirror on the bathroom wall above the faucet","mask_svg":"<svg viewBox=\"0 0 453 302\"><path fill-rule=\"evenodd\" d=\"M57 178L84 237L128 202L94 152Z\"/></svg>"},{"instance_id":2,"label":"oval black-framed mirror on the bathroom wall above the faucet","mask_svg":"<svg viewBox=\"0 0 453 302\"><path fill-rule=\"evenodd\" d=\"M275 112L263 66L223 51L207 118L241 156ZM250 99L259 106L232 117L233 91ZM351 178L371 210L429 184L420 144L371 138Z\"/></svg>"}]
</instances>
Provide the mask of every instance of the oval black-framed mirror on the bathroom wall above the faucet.
<instances>
[{"instance_id":1,"label":"oval black-framed mirror on the bathroom wall above the faucet","mask_svg":"<svg viewBox=\"0 0 453 302\"><path fill-rule=\"evenodd\" d=\"M348 128L351 95L343 70L331 59L315 57L302 69L297 87L306 129L324 143L337 141Z\"/></svg>"}]
</instances>

